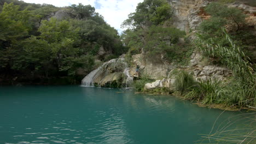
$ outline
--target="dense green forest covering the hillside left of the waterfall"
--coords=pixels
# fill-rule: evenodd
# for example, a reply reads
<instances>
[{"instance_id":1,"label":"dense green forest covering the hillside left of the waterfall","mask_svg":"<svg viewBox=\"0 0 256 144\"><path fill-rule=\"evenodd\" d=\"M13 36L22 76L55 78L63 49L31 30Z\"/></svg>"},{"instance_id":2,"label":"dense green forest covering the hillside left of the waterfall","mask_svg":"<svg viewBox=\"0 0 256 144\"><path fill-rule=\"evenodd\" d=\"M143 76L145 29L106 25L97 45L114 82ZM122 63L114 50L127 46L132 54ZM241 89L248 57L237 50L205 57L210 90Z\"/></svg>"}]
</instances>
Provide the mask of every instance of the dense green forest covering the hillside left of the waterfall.
<instances>
[{"instance_id":1,"label":"dense green forest covering the hillside left of the waterfall","mask_svg":"<svg viewBox=\"0 0 256 144\"><path fill-rule=\"evenodd\" d=\"M80 83L101 62L125 52L117 30L91 5L6 0L0 20L0 83Z\"/></svg>"}]
</instances>

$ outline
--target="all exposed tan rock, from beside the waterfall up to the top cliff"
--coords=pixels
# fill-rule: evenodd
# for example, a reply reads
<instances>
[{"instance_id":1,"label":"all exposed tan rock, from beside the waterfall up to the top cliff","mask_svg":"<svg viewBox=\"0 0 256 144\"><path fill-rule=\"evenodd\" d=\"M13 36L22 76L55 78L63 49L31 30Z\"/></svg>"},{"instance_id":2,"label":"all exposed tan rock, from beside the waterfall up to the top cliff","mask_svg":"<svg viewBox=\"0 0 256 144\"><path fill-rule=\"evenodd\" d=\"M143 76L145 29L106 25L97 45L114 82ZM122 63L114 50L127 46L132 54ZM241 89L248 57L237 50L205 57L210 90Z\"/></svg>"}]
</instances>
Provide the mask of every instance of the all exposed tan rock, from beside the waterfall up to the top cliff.
<instances>
[{"instance_id":1,"label":"all exposed tan rock, from beside the waterfall up to the top cliff","mask_svg":"<svg viewBox=\"0 0 256 144\"><path fill-rule=\"evenodd\" d=\"M190 36L193 39L193 33L196 32L196 28L204 19L209 17L203 8L206 7L211 0L169 0L168 2L172 5L173 25L187 33L190 33L192 35ZM245 11L245 13L248 15L248 22L251 22L251 25L256 27L255 7L245 5L242 2L229 4L229 7L236 7ZM146 90L161 87L173 89L175 76L172 75L172 71L174 69L188 71L197 81L207 79L225 80L227 77L232 75L231 71L227 68L218 67L217 65L210 65L208 63L204 63L203 61L204 59L202 58L201 54L199 52L194 52L191 56L190 64L186 67L180 67L175 63L154 63L147 61L142 53L132 56L132 66L129 68L129 70L126 69L125 73L126 75L130 76L135 75L136 64L139 64L141 73L149 76L151 79L156 80L153 83L147 83L145 86ZM117 78L117 76L115 78ZM103 77L99 77L95 80L101 83L100 81L102 79ZM114 80L108 79L108 81Z\"/></svg>"}]
</instances>

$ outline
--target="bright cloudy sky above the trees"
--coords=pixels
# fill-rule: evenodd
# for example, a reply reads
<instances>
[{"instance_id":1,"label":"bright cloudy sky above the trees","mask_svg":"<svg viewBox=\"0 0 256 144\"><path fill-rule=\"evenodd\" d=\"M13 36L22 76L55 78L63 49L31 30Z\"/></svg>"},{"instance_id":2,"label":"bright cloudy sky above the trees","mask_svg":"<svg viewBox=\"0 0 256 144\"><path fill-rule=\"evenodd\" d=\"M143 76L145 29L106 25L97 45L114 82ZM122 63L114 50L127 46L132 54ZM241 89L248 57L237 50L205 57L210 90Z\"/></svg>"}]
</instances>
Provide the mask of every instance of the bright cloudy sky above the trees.
<instances>
[{"instance_id":1,"label":"bright cloudy sky above the trees","mask_svg":"<svg viewBox=\"0 0 256 144\"><path fill-rule=\"evenodd\" d=\"M82 3L92 5L95 11L104 17L104 20L120 33L124 29L121 23L128 18L130 13L135 12L138 3L143 0L22 0L27 3L53 4L56 7L65 7L71 4Z\"/></svg>"}]
</instances>

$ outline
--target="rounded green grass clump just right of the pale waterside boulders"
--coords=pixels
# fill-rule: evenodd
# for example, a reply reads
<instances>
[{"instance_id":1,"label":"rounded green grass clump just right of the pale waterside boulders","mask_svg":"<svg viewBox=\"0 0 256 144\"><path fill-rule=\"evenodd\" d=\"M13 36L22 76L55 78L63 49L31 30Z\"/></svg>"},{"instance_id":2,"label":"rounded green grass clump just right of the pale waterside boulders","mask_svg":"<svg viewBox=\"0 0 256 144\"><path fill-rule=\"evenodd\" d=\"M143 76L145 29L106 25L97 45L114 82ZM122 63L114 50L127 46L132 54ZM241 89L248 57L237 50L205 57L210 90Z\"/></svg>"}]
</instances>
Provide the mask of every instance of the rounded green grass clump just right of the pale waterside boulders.
<instances>
[{"instance_id":1,"label":"rounded green grass clump just right of the pale waterside boulders","mask_svg":"<svg viewBox=\"0 0 256 144\"><path fill-rule=\"evenodd\" d=\"M177 91L181 92L181 95L188 92L189 89L194 85L194 77L184 70L179 72L174 82L174 86L176 87Z\"/></svg>"}]
</instances>

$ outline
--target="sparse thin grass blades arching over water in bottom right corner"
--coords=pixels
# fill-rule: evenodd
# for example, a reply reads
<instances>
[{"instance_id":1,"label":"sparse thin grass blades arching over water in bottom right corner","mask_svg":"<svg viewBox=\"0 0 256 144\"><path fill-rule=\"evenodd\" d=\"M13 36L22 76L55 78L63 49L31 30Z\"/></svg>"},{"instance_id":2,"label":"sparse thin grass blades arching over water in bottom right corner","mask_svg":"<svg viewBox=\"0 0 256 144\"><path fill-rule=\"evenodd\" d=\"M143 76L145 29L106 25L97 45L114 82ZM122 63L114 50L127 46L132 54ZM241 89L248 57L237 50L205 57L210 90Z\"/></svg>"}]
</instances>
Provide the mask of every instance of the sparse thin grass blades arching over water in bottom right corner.
<instances>
[{"instance_id":1,"label":"sparse thin grass blades arching over water in bottom right corner","mask_svg":"<svg viewBox=\"0 0 256 144\"><path fill-rule=\"evenodd\" d=\"M218 117L219 118L219 117ZM212 130L196 143L230 143L251 144L256 143L256 113L241 113L218 121L213 124Z\"/></svg>"}]
</instances>

